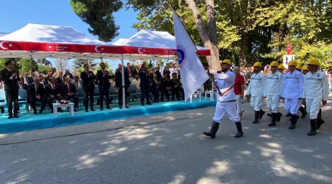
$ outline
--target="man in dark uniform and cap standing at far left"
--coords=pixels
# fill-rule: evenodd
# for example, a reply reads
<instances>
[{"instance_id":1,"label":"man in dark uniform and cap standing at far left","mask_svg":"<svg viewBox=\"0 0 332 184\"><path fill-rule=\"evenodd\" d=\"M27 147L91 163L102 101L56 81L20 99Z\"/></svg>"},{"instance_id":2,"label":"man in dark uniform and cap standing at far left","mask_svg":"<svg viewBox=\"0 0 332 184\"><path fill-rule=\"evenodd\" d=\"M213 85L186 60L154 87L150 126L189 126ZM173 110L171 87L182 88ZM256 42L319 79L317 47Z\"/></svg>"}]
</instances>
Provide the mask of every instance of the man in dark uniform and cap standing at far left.
<instances>
[{"instance_id":1,"label":"man in dark uniform and cap standing at far left","mask_svg":"<svg viewBox=\"0 0 332 184\"><path fill-rule=\"evenodd\" d=\"M0 77L4 81L4 89L8 107L8 119L18 118L18 84L19 77L14 71L14 63L9 60L5 62L6 68L0 72Z\"/></svg>"}]
</instances>

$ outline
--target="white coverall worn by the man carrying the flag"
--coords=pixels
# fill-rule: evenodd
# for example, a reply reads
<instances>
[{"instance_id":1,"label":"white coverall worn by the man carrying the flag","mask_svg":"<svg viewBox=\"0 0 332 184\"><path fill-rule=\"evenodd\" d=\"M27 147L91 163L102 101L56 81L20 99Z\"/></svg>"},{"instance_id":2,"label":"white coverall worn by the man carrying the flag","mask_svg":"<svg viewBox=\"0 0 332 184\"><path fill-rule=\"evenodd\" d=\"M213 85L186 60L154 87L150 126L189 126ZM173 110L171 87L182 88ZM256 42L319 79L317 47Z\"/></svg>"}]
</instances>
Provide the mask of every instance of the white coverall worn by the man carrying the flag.
<instances>
[{"instance_id":1,"label":"white coverall worn by the man carrying the flag","mask_svg":"<svg viewBox=\"0 0 332 184\"><path fill-rule=\"evenodd\" d=\"M233 86L235 80L235 73L232 71L227 71L224 74L214 74L215 81L217 82L217 87L220 89L222 94L225 93L227 89ZM228 92L221 96L218 92L217 104L215 116L213 121L220 123L220 120L226 113L228 118L234 122L240 122L239 114L236 112L236 96L234 94L234 87L232 87Z\"/></svg>"}]
</instances>

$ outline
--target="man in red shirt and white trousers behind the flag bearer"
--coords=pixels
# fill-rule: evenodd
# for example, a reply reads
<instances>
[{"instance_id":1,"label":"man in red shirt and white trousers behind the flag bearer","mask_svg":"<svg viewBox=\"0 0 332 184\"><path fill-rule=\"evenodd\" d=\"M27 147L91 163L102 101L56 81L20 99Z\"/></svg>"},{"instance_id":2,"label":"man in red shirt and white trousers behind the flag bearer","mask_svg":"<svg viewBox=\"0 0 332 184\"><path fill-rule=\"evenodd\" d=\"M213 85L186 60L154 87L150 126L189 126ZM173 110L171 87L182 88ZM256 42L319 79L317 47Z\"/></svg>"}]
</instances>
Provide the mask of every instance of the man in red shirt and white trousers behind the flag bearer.
<instances>
[{"instance_id":1,"label":"man in red shirt and white trousers behind the flag bearer","mask_svg":"<svg viewBox=\"0 0 332 184\"><path fill-rule=\"evenodd\" d=\"M244 77L240 74L241 71L239 66L234 66L233 72L235 73L234 93L236 96L236 112L241 118L244 111L241 106L241 99L244 96Z\"/></svg>"}]
</instances>

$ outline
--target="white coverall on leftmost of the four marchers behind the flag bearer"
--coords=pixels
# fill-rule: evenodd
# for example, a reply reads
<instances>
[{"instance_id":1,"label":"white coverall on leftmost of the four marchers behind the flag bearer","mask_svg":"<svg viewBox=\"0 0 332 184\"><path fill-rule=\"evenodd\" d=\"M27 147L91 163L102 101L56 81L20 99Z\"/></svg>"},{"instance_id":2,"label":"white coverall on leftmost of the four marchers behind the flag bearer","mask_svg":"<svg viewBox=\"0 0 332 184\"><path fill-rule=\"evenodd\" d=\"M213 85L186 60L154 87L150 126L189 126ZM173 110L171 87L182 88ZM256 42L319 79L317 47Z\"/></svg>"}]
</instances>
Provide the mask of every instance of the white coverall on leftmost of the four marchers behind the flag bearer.
<instances>
[{"instance_id":1,"label":"white coverall on leftmost of the four marchers behind the flag bearer","mask_svg":"<svg viewBox=\"0 0 332 184\"><path fill-rule=\"evenodd\" d=\"M251 95L250 105L260 111L263 97L266 97L266 77L262 73L252 74L246 95Z\"/></svg>"}]
</instances>

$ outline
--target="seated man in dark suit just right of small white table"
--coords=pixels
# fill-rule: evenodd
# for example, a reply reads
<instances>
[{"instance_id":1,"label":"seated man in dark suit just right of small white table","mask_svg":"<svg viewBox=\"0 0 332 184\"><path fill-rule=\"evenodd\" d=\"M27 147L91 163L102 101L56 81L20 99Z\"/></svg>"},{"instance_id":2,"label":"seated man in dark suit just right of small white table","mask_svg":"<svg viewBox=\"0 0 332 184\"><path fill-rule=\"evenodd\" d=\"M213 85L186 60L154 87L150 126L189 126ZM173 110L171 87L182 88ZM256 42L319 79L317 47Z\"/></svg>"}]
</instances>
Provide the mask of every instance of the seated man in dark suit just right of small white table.
<instances>
[{"instance_id":1,"label":"seated man in dark suit just right of small white table","mask_svg":"<svg viewBox=\"0 0 332 184\"><path fill-rule=\"evenodd\" d=\"M74 99L74 111L77 112L78 109L78 95L77 89L74 84L72 84L72 79L69 77L64 78L65 84L62 86L62 96L65 100Z\"/></svg>"}]
</instances>

